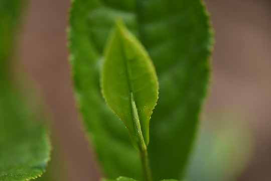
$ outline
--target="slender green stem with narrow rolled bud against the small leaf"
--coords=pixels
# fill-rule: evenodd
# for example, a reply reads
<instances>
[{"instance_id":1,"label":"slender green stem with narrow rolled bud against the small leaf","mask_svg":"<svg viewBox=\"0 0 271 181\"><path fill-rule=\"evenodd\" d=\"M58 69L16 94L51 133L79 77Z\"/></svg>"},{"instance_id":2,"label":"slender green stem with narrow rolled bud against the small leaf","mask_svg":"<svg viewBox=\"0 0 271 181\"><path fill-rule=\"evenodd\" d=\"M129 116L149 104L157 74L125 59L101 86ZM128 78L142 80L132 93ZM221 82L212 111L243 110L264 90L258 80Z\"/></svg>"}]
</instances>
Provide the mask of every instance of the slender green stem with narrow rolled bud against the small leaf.
<instances>
[{"instance_id":1,"label":"slender green stem with narrow rolled bud against the small leaf","mask_svg":"<svg viewBox=\"0 0 271 181\"><path fill-rule=\"evenodd\" d=\"M132 93L131 93L131 107L132 107L132 115L133 115L135 128L137 129L137 133L139 137L140 157L141 157L141 162L142 162L142 166L143 166L143 170L145 174L145 179L146 181L152 181L153 179L152 179L152 172L151 172L149 158L148 158L148 150L147 150L147 146L144 141L144 137L141 130L141 124L140 124L137 105L135 105Z\"/></svg>"}]
</instances>

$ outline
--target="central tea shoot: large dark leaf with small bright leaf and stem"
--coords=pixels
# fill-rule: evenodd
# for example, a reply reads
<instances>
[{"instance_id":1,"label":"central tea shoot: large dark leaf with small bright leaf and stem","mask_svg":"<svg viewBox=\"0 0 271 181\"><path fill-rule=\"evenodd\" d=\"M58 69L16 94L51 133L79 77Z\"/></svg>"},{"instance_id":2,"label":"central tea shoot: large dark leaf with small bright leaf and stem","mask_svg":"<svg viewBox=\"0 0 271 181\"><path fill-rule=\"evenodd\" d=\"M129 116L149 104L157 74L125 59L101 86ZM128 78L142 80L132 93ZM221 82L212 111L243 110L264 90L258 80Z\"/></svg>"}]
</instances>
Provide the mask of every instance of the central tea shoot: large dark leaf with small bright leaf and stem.
<instances>
[{"instance_id":1,"label":"central tea shoot: large dark leaf with small bright leaf and stem","mask_svg":"<svg viewBox=\"0 0 271 181\"><path fill-rule=\"evenodd\" d=\"M119 25L107 40L115 19L133 35ZM75 95L108 178L183 177L209 80L208 22L201 1L73 1L69 48ZM149 56L160 85L150 136L157 83ZM125 126L102 98L101 69L104 98Z\"/></svg>"}]
</instances>

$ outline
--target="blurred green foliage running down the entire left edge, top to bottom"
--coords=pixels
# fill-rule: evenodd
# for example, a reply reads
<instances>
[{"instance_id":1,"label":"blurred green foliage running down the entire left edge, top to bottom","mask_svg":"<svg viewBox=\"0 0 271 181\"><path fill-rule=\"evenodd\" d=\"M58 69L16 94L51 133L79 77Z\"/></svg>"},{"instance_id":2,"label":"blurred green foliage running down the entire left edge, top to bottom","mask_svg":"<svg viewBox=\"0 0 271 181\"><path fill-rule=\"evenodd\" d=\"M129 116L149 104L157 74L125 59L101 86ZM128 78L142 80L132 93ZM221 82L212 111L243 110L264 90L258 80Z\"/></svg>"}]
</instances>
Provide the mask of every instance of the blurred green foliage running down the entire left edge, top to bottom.
<instances>
[{"instance_id":1,"label":"blurred green foliage running down the entire left edge, top to bottom","mask_svg":"<svg viewBox=\"0 0 271 181\"><path fill-rule=\"evenodd\" d=\"M0 0L0 180L3 181L40 176L50 157L46 128L37 122L45 119L44 114L37 109L24 76L15 71L10 61L14 57L12 45L22 2Z\"/></svg>"}]
</instances>

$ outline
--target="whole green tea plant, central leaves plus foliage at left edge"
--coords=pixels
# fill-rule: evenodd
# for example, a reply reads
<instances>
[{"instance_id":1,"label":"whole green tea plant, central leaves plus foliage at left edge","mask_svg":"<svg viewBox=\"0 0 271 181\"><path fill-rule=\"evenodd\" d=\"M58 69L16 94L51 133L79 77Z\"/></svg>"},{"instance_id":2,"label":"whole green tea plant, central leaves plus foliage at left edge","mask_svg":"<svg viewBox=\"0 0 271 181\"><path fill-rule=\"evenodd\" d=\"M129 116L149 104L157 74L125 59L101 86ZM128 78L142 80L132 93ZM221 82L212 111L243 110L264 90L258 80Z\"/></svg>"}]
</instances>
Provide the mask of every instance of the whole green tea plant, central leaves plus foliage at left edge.
<instances>
[{"instance_id":1,"label":"whole green tea plant, central leaves plus foliage at left edge","mask_svg":"<svg viewBox=\"0 0 271 181\"><path fill-rule=\"evenodd\" d=\"M22 3L0 0L5 181L36 178L50 157L37 122L46 116L28 106L32 91L18 91L27 87L24 77L10 71ZM75 0L69 21L75 97L102 180L181 180L209 82L212 30L202 2Z\"/></svg>"}]
</instances>

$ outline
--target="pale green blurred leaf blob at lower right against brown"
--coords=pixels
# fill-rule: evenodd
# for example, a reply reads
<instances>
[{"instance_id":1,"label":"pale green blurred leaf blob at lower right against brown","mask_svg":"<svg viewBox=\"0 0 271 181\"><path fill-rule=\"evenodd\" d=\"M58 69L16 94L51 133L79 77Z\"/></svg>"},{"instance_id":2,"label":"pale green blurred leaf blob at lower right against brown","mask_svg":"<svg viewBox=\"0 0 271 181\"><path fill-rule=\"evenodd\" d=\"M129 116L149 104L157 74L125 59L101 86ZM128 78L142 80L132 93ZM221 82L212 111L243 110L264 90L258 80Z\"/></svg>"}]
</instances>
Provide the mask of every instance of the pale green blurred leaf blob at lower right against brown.
<instances>
[{"instance_id":1,"label":"pale green blurred leaf blob at lower right against brown","mask_svg":"<svg viewBox=\"0 0 271 181\"><path fill-rule=\"evenodd\" d=\"M203 121L187 171L189 181L234 181L252 153L252 136L244 118L227 112Z\"/></svg>"}]
</instances>

